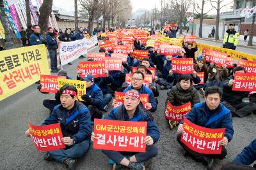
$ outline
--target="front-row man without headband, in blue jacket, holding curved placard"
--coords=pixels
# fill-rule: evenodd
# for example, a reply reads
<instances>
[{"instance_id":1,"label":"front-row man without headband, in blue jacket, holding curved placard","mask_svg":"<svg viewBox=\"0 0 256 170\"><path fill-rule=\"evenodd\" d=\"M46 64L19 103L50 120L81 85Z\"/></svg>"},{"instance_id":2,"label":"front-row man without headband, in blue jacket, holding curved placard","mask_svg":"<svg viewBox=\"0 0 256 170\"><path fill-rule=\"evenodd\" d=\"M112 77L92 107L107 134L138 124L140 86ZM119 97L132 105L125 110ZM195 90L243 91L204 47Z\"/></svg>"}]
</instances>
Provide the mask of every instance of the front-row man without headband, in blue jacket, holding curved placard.
<instances>
[{"instance_id":1,"label":"front-row man without headband, in blue jacket, holding curved placard","mask_svg":"<svg viewBox=\"0 0 256 170\"><path fill-rule=\"evenodd\" d=\"M220 88L214 86L208 87L205 90L205 102L195 104L192 110L186 115L186 118L191 123L202 127L211 129L225 128L224 138L219 141L219 144L227 146L228 142L233 138L234 129L230 111L223 104L220 104L221 94ZM184 132L182 123L180 122L178 127L180 134L177 136L177 141L184 148L185 153L188 153L196 160L207 163L208 169L212 169L213 159L224 159L226 157L227 150L225 147L222 147L219 155L207 155L189 149L188 146L180 141Z\"/></svg>"}]
</instances>

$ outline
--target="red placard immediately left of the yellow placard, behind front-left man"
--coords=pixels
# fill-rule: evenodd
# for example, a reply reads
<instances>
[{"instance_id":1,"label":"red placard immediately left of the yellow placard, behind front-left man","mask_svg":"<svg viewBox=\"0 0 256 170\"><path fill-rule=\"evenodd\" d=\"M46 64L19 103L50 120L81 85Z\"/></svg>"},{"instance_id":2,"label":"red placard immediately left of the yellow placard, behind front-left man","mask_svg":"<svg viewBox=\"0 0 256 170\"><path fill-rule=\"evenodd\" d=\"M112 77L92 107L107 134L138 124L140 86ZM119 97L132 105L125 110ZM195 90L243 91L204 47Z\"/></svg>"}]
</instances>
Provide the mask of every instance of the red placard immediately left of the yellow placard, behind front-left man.
<instances>
[{"instance_id":1,"label":"red placard immediately left of the yellow placard, behind front-left man","mask_svg":"<svg viewBox=\"0 0 256 170\"><path fill-rule=\"evenodd\" d=\"M66 78L66 77L41 74L40 84L42 85L42 88L40 89L40 92L57 93L59 90L58 78Z\"/></svg>"}]
</instances>

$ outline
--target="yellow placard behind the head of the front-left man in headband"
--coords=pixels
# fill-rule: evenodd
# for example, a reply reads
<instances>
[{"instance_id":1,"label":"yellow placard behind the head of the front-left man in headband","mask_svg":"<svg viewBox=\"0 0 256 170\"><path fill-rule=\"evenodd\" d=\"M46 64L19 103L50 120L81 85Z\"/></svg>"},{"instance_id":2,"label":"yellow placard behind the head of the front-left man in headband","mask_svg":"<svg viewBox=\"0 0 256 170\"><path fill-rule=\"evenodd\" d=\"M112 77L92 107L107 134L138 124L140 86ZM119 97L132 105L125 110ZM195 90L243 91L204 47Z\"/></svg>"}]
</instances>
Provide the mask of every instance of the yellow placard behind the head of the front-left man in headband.
<instances>
[{"instance_id":1,"label":"yellow placard behind the head of the front-left man in headband","mask_svg":"<svg viewBox=\"0 0 256 170\"><path fill-rule=\"evenodd\" d=\"M63 85L73 85L77 89L77 98L79 101L84 101L81 97L86 93L86 81L69 80L64 78L58 78L59 90Z\"/></svg>"}]
</instances>

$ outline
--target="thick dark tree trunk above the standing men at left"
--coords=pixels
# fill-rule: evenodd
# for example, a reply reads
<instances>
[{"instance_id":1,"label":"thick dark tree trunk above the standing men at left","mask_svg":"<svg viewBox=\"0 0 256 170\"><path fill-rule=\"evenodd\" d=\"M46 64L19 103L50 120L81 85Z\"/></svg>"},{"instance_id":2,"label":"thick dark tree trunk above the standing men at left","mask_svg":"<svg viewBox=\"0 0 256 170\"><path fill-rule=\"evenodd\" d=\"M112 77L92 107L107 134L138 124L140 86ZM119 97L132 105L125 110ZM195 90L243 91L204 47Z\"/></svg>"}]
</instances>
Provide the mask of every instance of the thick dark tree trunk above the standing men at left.
<instances>
[{"instance_id":1,"label":"thick dark tree trunk above the standing men at left","mask_svg":"<svg viewBox=\"0 0 256 170\"><path fill-rule=\"evenodd\" d=\"M38 19L38 25L40 26L42 34L44 35L47 33L49 16L52 11L52 1L53 0L44 1L39 9L40 15Z\"/></svg>"}]
</instances>

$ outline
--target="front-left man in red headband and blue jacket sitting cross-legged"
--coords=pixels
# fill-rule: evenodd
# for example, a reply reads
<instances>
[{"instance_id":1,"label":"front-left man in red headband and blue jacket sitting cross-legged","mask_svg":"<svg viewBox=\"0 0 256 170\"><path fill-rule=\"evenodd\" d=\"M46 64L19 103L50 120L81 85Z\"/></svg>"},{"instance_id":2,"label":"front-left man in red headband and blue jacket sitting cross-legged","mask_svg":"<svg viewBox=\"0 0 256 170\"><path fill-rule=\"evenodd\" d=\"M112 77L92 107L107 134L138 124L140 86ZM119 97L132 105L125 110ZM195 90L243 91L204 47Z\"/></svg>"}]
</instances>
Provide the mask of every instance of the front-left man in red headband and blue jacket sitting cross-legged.
<instances>
[{"instance_id":1,"label":"front-left man in red headband and blue jacket sitting cross-legged","mask_svg":"<svg viewBox=\"0 0 256 170\"><path fill-rule=\"evenodd\" d=\"M54 107L51 115L42 125L60 124L65 149L47 152L45 160L57 160L69 169L76 166L76 159L83 157L90 146L92 133L90 113L83 103L77 101L77 89L71 85L64 85L60 89L61 104ZM25 134L31 138L29 130Z\"/></svg>"}]
</instances>

